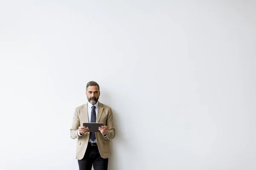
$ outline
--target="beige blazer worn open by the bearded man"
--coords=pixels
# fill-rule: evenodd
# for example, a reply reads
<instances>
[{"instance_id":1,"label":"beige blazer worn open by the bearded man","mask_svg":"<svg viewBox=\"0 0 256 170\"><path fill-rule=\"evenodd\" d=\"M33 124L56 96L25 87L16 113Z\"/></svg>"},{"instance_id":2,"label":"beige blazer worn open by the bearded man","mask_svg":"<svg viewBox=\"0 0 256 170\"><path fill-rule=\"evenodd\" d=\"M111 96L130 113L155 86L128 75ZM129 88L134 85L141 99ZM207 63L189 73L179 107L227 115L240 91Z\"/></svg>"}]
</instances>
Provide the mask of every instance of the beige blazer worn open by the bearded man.
<instances>
[{"instance_id":1,"label":"beige blazer worn open by the bearded man","mask_svg":"<svg viewBox=\"0 0 256 170\"><path fill-rule=\"evenodd\" d=\"M89 132L84 133L81 137L77 134L79 126L82 126L84 122L89 122L87 103L76 108L74 111L72 127L70 128L70 137L72 139L78 138L76 144L76 159L79 160L83 159L89 142ZM96 122L104 123L104 125L108 126L108 139L105 139L100 132L96 133L99 153L102 158L108 158L111 155L109 139L113 139L116 134L113 125L113 113L109 106L99 102Z\"/></svg>"}]
</instances>

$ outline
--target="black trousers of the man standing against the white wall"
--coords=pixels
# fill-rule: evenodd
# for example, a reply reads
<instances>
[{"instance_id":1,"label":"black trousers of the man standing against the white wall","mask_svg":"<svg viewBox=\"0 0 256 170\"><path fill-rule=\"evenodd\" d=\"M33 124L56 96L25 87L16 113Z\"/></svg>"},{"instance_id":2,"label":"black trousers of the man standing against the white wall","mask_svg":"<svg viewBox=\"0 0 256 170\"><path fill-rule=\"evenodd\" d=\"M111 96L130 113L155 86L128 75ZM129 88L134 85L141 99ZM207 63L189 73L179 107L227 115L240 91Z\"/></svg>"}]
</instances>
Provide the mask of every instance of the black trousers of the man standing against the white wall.
<instances>
[{"instance_id":1,"label":"black trousers of the man standing against the white wall","mask_svg":"<svg viewBox=\"0 0 256 170\"><path fill-rule=\"evenodd\" d=\"M98 146L91 146L90 143L84 154L84 158L78 160L79 170L108 170L108 158L104 159L99 154Z\"/></svg>"}]
</instances>

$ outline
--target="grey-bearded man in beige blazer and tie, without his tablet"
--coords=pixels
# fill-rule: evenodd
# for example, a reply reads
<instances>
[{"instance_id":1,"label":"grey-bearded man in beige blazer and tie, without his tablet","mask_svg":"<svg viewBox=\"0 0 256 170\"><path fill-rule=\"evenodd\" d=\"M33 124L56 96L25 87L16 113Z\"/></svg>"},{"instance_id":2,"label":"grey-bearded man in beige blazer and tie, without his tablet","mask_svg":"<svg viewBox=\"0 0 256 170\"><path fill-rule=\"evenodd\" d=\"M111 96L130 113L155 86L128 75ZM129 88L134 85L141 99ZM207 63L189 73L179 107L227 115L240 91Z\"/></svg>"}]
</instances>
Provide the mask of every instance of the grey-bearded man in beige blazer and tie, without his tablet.
<instances>
[{"instance_id":1,"label":"grey-bearded man in beige blazer and tie, without his tablet","mask_svg":"<svg viewBox=\"0 0 256 170\"><path fill-rule=\"evenodd\" d=\"M108 170L108 157L110 156L109 139L115 137L113 113L109 106L100 102L99 85L88 82L86 85L88 102L76 108L73 123L70 129L72 139L77 139L76 159L79 170ZM84 122L100 122L100 132L88 132L88 127L83 127Z\"/></svg>"}]
</instances>

